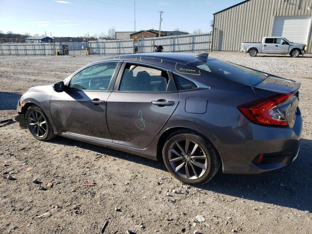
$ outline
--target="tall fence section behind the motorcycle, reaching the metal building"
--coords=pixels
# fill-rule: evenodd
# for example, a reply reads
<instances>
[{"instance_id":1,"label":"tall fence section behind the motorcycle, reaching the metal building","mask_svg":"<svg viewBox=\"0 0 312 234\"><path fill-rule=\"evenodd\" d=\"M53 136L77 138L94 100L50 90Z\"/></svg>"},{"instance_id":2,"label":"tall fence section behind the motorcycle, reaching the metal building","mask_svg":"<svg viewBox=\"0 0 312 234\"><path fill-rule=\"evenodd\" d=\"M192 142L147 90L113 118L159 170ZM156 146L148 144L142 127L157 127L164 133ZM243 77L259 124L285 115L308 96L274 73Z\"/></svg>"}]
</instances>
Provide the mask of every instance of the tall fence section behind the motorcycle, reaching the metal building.
<instances>
[{"instance_id":1,"label":"tall fence section behind the motorcycle, reaching the metal building","mask_svg":"<svg viewBox=\"0 0 312 234\"><path fill-rule=\"evenodd\" d=\"M179 35L139 39L138 52L153 52L153 45L162 45L163 52L195 52L211 49L211 34Z\"/></svg>"}]
</instances>

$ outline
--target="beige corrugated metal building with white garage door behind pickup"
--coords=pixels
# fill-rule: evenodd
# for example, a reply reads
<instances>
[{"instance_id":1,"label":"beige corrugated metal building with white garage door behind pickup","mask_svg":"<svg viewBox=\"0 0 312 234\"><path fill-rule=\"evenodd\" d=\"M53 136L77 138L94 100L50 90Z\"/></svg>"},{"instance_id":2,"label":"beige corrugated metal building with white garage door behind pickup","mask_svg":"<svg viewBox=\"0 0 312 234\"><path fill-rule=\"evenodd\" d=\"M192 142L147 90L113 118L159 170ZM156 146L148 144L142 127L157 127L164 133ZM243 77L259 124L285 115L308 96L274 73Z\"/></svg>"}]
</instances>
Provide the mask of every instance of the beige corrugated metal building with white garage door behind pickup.
<instances>
[{"instance_id":1,"label":"beige corrugated metal building with white garage door behind pickup","mask_svg":"<svg viewBox=\"0 0 312 234\"><path fill-rule=\"evenodd\" d=\"M213 50L239 51L242 42L285 37L312 53L312 0L245 0L214 14Z\"/></svg>"}]
</instances>

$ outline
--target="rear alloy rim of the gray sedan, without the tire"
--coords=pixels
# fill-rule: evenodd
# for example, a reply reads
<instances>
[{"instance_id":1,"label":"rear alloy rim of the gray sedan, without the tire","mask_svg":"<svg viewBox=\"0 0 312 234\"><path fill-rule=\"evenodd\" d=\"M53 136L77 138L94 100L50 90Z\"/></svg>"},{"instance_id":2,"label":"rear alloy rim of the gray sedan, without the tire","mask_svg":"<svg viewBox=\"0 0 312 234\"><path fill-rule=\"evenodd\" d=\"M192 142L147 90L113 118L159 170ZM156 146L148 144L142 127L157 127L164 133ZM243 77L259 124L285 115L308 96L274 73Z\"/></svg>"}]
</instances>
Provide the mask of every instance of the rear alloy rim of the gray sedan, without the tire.
<instances>
[{"instance_id":1,"label":"rear alloy rim of the gray sedan, without the tire","mask_svg":"<svg viewBox=\"0 0 312 234\"><path fill-rule=\"evenodd\" d=\"M173 171L186 179L198 179L209 170L205 152L189 138L179 138L171 143L168 161Z\"/></svg>"}]
</instances>

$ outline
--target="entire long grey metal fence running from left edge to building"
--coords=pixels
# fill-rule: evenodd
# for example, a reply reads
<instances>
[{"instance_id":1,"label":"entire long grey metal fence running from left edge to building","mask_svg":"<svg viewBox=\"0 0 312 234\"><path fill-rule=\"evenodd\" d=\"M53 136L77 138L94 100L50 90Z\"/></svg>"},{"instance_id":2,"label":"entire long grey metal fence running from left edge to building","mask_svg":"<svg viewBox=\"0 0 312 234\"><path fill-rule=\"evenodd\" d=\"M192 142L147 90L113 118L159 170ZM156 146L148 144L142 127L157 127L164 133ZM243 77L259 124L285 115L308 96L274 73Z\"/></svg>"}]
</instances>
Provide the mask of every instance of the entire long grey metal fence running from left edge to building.
<instances>
[{"instance_id":1,"label":"entire long grey metal fence running from left edge to building","mask_svg":"<svg viewBox=\"0 0 312 234\"><path fill-rule=\"evenodd\" d=\"M196 52L211 49L211 34L179 35L160 38L103 40L89 42L57 43L3 43L0 55L124 55L153 52L155 45L162 45L163 52Z\"/></svg>"}]
</instances>

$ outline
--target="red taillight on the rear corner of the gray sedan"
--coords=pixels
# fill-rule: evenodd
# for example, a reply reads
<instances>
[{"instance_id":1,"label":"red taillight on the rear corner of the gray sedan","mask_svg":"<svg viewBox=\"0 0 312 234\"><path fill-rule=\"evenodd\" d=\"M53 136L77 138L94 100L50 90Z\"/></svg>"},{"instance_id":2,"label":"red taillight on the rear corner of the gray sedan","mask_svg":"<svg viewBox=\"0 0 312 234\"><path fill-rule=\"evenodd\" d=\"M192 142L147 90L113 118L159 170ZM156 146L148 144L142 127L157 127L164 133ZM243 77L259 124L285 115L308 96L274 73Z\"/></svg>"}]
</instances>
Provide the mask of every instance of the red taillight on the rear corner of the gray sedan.
<instances>
[{"instance_id":1,"label":"red taillight on the rear corner of the gray sedan","mask_svg":"<svg viewBox=\"0 0 312 234\"><path fill-rule=\"evenodd\" d=\"M261 98L252 102L238 106L238 110L250 121L269 126L288 126L288 122L277 107L292 94L278 94L268 98Z\"/></svg>"}]
</instances>

